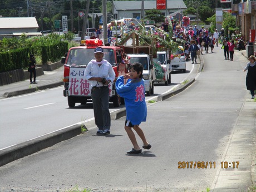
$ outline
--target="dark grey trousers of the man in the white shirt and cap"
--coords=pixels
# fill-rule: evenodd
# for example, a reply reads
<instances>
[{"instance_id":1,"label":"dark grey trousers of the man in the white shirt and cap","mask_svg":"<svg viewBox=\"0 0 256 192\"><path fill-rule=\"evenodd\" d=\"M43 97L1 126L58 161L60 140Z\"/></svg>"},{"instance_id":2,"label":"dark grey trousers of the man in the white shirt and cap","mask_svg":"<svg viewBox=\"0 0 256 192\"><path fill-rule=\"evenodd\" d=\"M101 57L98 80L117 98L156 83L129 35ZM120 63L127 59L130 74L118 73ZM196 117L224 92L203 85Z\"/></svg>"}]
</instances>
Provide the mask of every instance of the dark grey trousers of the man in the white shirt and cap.
<instances>
[{"instance_id":1,"label":"dark grey trousers of the man in the white shirt and cap","mask_svg":"<svg viewBox=\"0 0 256 192\"><path fill-rule=\"evenodd\" d=\"M110 130L109 87L92 88L91 97L95 124L99 130Z\"/></svg>"}]
</instances>

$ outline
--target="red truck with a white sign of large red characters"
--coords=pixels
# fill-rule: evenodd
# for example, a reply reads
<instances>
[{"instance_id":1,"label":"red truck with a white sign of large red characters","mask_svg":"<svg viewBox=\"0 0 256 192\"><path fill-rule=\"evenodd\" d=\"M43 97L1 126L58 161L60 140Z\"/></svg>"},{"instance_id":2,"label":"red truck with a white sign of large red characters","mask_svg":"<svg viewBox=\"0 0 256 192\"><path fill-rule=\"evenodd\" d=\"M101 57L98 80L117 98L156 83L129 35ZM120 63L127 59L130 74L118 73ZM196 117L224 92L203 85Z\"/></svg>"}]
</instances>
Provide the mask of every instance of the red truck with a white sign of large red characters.
<instances>
[{"instance_id":1,"label":"red truck with a white sign of large red characters","mask_svg":"<svg viewBox=\"0 0 256 192\"><path fill-rule=\"evenodd\" d=\"M85 79L85 68L94 57L94 49L101 46L104 49L104 59L109 61L116 73L116 78L127 73L127 64L123 63L122 49L117 46L103 46L98 39L85 40L85 46L71 47L66 57L62 57L64 64L64 90L69 107L75 107L76 103L85 105L91 101L90 81ZM115 83L109 85L110 102L114 107L119 107L121 99L115 91Z\"/></svg>"}]
</instances>

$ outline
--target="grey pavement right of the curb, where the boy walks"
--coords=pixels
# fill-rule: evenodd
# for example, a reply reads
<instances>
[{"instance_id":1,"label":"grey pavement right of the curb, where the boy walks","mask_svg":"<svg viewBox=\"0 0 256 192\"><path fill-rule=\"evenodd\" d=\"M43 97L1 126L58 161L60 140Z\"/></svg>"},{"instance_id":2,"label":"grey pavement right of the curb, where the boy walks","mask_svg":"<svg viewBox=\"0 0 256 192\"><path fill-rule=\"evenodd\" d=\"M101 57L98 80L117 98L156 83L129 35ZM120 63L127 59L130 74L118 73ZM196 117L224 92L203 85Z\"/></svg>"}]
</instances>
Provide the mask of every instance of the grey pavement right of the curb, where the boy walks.
<instances>
[{"instance_id":1,"label":"grey pavement right of the curb, where the boy walks","mask_svg":"<svg viewBox=\"0 0 256 192\"><path fill-rule=\"evenodd\" d=\"M185 91L149 104L141 124L152 145L126 155L131 144L124 120L111 135L95 128L0 168L2 191L242 191L251 185L255 105L245 90L246 63L222 59L222 50L203 56L204 72ZM215 162L207 169L179 169L179 161ZM221 169L221 161L239 161Z\"/></svg>"}]
</instances>

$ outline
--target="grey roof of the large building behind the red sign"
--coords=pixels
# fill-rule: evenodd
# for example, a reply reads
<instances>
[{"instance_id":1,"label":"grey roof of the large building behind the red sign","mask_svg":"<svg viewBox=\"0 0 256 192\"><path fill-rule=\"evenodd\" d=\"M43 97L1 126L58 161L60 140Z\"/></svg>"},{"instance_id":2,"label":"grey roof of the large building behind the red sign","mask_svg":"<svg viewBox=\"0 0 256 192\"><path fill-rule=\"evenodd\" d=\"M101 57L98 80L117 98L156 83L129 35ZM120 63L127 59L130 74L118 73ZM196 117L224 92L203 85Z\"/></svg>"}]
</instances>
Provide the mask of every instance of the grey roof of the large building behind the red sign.
<instances>
[{"instance_id":1,"label":"grey roof of the large building behind the red sign","mask_svg":"<svg viewBox=\"0 0 256 192\"><path fill-rule=\"evenodd\" d=\"M141 10L141 1L113 1L117 11ZM168 9L186 9L182 0L168 0ZM144 9L156 8L156 1L144 1Z\"/></svg>"}]
</instances>

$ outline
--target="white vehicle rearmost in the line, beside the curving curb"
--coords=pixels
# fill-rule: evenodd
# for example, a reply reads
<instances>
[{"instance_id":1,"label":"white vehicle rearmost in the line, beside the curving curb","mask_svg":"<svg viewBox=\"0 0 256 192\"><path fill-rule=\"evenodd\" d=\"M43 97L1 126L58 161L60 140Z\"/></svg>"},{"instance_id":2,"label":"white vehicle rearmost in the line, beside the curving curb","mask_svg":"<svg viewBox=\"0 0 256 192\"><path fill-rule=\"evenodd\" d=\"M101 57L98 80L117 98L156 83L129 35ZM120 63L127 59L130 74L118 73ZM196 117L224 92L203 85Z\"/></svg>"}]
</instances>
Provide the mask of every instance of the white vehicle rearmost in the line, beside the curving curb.
<instances>
[{"instance_id":1,"label":"white vehicle rearmost in the line, beside the curving curb","mask_svg":"<svg viewBox=\"0 0 256 192\"><path fill-rule=\"evenodd\" d=\"M173 54L171 54L171 68L172 70L178 70L182 72L186 72L186 58L184 53L183 46L178 46L178 50L176 50Z\"/></svg>"}]
</instances>

